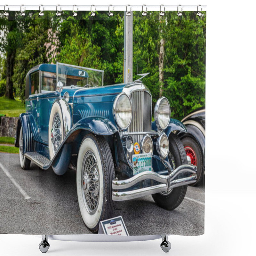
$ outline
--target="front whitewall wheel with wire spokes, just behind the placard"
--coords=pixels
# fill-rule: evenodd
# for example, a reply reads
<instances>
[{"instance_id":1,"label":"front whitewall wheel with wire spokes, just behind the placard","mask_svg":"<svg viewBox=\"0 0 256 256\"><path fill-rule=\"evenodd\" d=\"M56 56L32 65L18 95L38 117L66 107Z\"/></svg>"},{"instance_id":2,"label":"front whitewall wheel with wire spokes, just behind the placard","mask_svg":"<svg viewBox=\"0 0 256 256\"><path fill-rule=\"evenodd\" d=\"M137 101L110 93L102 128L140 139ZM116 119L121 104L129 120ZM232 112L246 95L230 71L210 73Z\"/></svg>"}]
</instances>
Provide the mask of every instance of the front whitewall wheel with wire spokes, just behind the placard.
<instances>
[{"instance_id":1,"label":"front whitewall wheel with wire spokes, just behind the placard","mask_svg":"<svg viewBox=\"0 0 256 256\"><path fill-rule=\"evenodd\" d=\"M93 232L102 220L110 218L114 164L107 141L88 134L78 152L76 188L78 204L84 224Z\"/></svg>"}]
</instances>

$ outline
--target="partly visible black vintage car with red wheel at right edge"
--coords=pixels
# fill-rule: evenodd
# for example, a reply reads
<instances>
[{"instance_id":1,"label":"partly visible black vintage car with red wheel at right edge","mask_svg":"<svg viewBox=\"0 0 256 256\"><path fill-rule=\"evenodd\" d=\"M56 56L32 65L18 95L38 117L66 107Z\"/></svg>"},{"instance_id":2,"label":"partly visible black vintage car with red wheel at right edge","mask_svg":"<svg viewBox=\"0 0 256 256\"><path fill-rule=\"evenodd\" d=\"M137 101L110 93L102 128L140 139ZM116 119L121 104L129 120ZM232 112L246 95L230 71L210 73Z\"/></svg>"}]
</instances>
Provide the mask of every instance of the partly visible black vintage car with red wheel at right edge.
<instances>
[{"instance_id":1,"label":"partly visible black vintage car with red wheel at right edge","mask_svg":"<svg viewBox=\"0 0 256 256\"><path fill-rule=\"evenodd\" d=\"M191 186L195 186L202 181L205 170L205 108L194 110L181 122L188 130L187 133L179 132L178 134L184 145L188 164L197 166L197 179L195 183L191 184Z\"/></svg>"}]
</instances>

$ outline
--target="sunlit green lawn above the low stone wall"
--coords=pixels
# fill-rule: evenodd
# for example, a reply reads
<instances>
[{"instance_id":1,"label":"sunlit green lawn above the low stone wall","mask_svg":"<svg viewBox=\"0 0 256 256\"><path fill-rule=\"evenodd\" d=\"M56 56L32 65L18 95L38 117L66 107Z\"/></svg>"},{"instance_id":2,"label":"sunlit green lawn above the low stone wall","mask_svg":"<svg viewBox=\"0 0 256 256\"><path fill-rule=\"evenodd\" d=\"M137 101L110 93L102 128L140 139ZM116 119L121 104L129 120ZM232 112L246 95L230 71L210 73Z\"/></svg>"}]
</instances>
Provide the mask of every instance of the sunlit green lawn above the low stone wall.
<instances>
[{"instance_id":1,"label":"sunlit green lawn above the low stone wall","mask_svg":"<svg viewBox=\"0 0 256 256\"><path fill-rule=\"evenodd\" d=\"M10 100L8 98L0 97L0 114L4 114L9 117L20 116L20 113L25 112L25 104L20 100Z\"/></svg>"}]
</instances>

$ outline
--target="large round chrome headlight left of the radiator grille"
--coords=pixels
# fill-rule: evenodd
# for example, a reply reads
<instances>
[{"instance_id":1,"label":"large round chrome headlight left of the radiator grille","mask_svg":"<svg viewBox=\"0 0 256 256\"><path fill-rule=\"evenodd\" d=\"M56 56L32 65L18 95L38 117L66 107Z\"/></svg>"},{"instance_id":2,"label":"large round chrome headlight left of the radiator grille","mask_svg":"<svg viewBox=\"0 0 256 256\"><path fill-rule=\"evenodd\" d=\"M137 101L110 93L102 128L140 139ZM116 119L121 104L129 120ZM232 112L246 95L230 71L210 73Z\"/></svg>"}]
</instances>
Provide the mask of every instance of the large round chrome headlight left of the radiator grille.
<instances>
[{"instance_id":1,"label":"large round chrome headlight left of the radiator grille","mask_svg":"<svg viewBox=\"0 0 256 256\"><path fill-rule=\"evenodd\" d=\"M132 121L132 103L124 92L120 93L114 101L113 116L121 130L125 130Z\"/></svg>"}]
</instances>

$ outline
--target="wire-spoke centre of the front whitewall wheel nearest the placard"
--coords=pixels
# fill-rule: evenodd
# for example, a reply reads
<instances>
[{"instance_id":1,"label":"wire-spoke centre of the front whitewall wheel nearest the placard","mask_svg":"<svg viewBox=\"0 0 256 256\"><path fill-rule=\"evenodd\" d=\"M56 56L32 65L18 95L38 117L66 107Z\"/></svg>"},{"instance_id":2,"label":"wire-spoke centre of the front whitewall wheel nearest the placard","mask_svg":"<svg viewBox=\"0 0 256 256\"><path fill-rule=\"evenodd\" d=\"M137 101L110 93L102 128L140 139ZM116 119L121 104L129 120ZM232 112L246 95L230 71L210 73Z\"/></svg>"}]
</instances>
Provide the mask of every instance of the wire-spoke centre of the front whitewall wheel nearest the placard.
<instances>
[{"instance_id":1,"label":"wire-spoke centre of the front whitewall wheel nearest the placard","mask_svg":"<svg viewBox=\"0 0 256 256\"><path fill-rule=\"evenodd\" d=\"M85 154L82 168L84 205L90 214L94 214L99 204L100 178L98 163L91 150Z\"/></svg>"}]
</instances>

